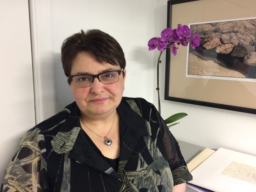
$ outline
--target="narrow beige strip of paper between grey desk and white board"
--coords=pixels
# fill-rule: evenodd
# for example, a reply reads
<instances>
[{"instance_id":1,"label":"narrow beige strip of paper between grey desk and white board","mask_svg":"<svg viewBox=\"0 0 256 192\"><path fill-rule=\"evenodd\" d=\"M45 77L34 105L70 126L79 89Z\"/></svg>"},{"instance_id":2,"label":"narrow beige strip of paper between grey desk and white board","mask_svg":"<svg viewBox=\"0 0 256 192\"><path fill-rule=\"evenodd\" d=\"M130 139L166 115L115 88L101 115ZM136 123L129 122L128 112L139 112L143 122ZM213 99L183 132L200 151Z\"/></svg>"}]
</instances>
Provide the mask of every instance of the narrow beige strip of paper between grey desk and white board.
<instances>
[{"instance_id":1,"label":"narrow beige strip of paper between grey desk and white board","mask_svg":"<svg viewBox=\"0 0 256 192\"><path fill-rule=\"evenodd\" d=\"M215 151L209 148L205 148L201 153L199 153L194 159L187 163L187 168L189 171L193 171L198 165L200 165L204 160L210 157Z\"/></svg>"}]
</instances>

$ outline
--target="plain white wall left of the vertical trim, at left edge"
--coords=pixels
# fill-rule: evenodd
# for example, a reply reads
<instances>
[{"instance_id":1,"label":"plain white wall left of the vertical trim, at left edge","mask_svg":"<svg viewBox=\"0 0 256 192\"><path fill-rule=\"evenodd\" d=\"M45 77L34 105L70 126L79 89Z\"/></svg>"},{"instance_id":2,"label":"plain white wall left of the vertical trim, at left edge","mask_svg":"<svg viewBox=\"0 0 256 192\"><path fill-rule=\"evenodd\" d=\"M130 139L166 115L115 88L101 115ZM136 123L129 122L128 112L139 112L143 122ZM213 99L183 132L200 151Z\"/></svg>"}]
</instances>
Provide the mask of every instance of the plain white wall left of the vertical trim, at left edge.
<instances>
[{"instance_id":1,"label":"plain white wall left of the vertical trim, at left edge","mask_svg":"<svg viewBox=\"0 0 256 192\"><path fill-rule=\"evenodd\" d=\"M0 181L22 135L35 125L27 0L0 0Z\"/></svg>"}]
</instances>

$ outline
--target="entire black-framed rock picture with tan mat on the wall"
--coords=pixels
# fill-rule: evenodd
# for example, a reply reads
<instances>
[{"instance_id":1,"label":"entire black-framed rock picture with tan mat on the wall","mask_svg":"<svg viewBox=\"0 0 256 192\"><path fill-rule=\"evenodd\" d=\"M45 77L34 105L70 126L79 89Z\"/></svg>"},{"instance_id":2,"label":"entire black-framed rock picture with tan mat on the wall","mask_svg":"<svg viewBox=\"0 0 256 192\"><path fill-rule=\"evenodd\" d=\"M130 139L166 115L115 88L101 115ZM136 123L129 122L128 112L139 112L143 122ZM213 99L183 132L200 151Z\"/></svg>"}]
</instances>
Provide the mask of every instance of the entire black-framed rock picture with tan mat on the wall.
<instances>
[{"instance_id":1,"label":"entire black-framed rock picture with tan mat on the wall","mask_svg":"<svg viewBox=\"0 0 256 192\"><path fill-rule=\"evenodd\" d=\"M165 100L256 114L256 1L169 0L167 27L201 44L166 50Z\"/></svg>"}]
</instances>

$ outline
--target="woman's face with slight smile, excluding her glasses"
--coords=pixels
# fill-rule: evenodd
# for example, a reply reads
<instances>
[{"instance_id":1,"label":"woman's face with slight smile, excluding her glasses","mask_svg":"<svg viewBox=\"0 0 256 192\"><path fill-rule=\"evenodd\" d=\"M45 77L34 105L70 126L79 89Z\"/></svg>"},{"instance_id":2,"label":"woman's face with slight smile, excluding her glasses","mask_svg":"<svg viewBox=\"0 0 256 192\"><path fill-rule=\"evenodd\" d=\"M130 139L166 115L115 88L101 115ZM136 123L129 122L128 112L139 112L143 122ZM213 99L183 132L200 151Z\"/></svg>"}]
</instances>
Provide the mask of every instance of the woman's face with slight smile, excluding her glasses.
<instances>
[{"instance_id":1,"label":"woman's face with slight smile, excluding her glasses","mask_svg":"<svg viewBox=\"0 0 256 192\"><path fill-rule=\"evenodd\" d=\"M90 74L119 70L119 65L98 63L94 56L87 52L78 53L71 68L71 75ZM124 74L126 71L123 70ZM87 117L104 117L115 112L120 104L124 90L125 75L119 75L119 80L112 84L103 84L97 78L89 87L75 87L70 84L73 97L78 105L81 115Z\"/></svg>"}]
</instances>

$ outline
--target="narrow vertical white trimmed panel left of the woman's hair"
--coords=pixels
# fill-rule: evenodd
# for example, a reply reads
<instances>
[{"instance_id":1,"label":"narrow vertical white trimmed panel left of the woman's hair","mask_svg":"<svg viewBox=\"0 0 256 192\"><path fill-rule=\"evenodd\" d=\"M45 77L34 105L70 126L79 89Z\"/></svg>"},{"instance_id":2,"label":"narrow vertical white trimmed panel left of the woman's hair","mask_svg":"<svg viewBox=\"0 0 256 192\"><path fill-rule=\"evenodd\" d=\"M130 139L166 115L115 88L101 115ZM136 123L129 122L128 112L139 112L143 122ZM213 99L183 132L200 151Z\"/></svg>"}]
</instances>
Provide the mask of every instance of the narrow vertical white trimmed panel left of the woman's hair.
<instances>
[{"instance_id":1,"label":"narrow vertical white trimmed panel left of the woman's hair","mask_svg":"<svg viewBox=\"0 0 256 192\"><path fill-rule=\"evenodd\" d=\"M51 0L29 0L36 123L55 115Z\"/></svg>"}]
</instances>

